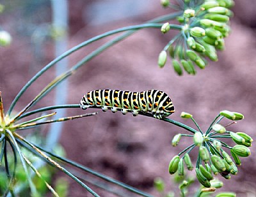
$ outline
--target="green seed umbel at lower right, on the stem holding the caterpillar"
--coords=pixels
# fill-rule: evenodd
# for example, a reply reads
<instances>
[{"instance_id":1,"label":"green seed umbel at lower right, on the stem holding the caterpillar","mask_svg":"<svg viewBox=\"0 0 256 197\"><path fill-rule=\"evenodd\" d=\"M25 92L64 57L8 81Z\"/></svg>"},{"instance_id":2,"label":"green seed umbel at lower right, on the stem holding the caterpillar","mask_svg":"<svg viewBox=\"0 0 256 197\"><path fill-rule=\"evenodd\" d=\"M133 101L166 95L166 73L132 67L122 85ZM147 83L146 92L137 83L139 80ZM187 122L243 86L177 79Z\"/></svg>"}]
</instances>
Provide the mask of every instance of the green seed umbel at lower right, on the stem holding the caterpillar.
<instances>
[{"instance_id":1,"label":"green seed umbel at lower right, on the stem holding the caterpillar","mask_svg":"<svg viewBox=\"0 0 256 197\"><path fill-rule=\"evenodd\" d=\"M192 150L197 149L198 157L195 166L196 178L204 187L219 187L211 183L212 179L214 179L214 175L220 174L221 177L225 179L230 179L231 175L236 175L238 172L237 166L241 165L240 157L248 157L251 154L248 147L252 146L253 139L244 132L228 131L227 126L235 122L231 122L227 126L222 126L220 121L223 118L232 121L242 120L244 115L238 112L223 110L211 122L205 132L200 129L195 119L193 119L193 115L190 113L182 112L180 117L193 120L198 131L196 129L187 129L191 131L193 135L178 133L173 137L172 145L174 147L179 145L182 137L192 137L193 143L182 150L177 156L173 157L170 161L169 173L173 174L177 172L180 177L183 177L185 174L184 165L186 165L188 170L193 170L194 166L189 154ZM186 126L186 128L188 128L188 126ZM228 145L227 142L222 142L221 138L230 138L230 141L233 140L236 145L232 147ZM221 195L222 194L219 196Z\"/></svg>"}]
</instances>

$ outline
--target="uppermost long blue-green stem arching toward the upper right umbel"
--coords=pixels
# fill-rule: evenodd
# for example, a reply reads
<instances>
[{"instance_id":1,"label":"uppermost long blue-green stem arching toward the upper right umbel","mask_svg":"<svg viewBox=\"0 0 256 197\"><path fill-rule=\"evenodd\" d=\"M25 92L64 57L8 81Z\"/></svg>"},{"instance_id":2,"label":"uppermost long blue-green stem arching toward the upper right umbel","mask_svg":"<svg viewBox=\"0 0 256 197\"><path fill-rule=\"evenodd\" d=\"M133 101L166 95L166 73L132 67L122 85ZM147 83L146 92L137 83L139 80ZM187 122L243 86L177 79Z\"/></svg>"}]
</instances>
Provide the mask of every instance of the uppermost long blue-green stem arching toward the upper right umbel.
<instances>
[{"instance_id":1,"label":"uppermost long blue-green stem arching toward the upper right umbel","mask_svg":"<svg viewBox=\"0 0 256 197\"><path fill-rule=\"evenodd\" d=\"M177 16L179 16L182 12L177 12L177 13L172 13L171 15L165 15L163 17L157 17L156 19L150 20L149 22L161 22L164 20L168 20L171 18L175 18ZM120 33L123 31L129 31L129 33L127 33L127 36L129 36L130 34L134 33L135 31L139 30L139 29L143 29L143 28L148 28L148 27L161 27L161 25L159 24L143 24L143 25L138 25L138 26L129 26L129 27L122 27L119 29L115 29L113 31L108 31L107 33L103 33L100 34L99 36L95 36L89 40L84 41L83 43L80 43L79 45L76 45L76 47L70 48L70 50L67 50L67 52L61 54L59 57L57 57L56 59L54 59L53 61L51 61L49 64L47 64L43 69L41 69L38 73L36 73L36 75L31 78L31 80L29 80L29 82L27 82L26 85L24 85L24 87L22 87L22 89L20 90L20 92L17 94L17 96L15 97L15 99L13 99L12 104L10 105L10 108L7 112L7 114L10 116L10 113L12 112L14 106L16 105L17 101L19 100L20 96L22 96L22 94L24 94L24 92L28 89L28 87L33 84L33 82L35 82L35 80L37 78L39 78L43 73L45 73L45 71L47 71L49 68L51 68L52 66L54 66L54 64L56 64L57 62L61 61L61 59L67 57L68 55L72 54L73 52L76 52L77 50L85 47L86 45L93 43L94 41L100 40L106 36L110 36L112 34L116 34L116 33ZM173 25L170 26L173 29L181 29L182 26L177 26L177 25ZM127 37L126 36L126 37Z\"/></svg>"}]
</instances>

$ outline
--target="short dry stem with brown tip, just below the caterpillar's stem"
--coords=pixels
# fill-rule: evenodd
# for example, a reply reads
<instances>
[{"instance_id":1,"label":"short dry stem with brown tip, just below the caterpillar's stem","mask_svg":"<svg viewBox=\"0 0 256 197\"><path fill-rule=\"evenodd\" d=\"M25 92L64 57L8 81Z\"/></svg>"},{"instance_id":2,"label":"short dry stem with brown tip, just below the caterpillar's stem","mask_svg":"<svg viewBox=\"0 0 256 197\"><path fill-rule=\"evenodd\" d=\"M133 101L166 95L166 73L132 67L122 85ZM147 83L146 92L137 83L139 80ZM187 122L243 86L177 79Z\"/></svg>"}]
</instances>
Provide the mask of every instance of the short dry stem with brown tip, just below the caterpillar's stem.
<instances>
[{"instance_id":1,"label":"short dry stem with brown tip, just below the caterpillar's stem","mask_svg":"<svg viewBox=\"0 0 256 197\"><path fill-rule=\"evenodd\" d=\"M88 116L97 115L97 114L98 114L98 112L86 113L86 114L83 114L83 115L63 117L63 118L56 119L56 120L47 120L45 122L33 122L33 123L29 123L29 124L22 124L22 125L13 126L13 127L10 127L10 129L28 128L28 127L31 127L31 126L38 126L38 125L41 125L41 124L51 124L52 122L63 122L63 121L67 121L67 120L79 119L79 118L82 118L82 117L88 117Z\"/></svg>"}]
</instances>

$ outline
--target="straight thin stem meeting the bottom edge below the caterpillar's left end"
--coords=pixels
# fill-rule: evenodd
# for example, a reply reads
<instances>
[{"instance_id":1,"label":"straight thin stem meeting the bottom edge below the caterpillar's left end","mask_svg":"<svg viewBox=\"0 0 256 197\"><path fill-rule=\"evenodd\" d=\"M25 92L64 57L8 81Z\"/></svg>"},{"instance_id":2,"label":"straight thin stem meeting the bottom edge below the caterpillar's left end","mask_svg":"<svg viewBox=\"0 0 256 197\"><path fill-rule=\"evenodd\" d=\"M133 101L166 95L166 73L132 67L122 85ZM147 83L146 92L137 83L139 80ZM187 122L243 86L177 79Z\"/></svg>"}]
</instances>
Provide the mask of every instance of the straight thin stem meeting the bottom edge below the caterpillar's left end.
<instances>
[{"instance_id":1,"label":"straight thin stem meeting the bottom edge below the caterpillar's left end","mask_svg":"<svg viewBox=\"0 0 256 197\"><path fill-rule=\"evenodd\" d=\"M63 171L65 174L67 174L69 177L71 177L72 179L74 179L78 184L80 184L80 186L84 187L88 192L90 192L93 196L97 196L99 197L99 195L97 193L95 193L90 187L86 186L86 184L84 184L83 182L81 182L81 180L77 179L76 176L72 175L72 173L70 173L69 171L67 171L65 168L63 168L62 166L60 166L60 164L56 163L56 161L53 161L50 157L48 157L46 154L44 154L44 152L42 152L40 149L36 148L33 144L29 143L28 141L26 141L24 138L22 138L22 136L18 135L17 133L13 133L13 135L18 138L19 140L21 140L22 142L27 143L29 146L31 146L33 149L36 150L36 152L38 152L41 156L45 157L45 159L47 159L50 163L52 163L56 168L58 168L59 170Z\"/></svg>"}]
</instances>

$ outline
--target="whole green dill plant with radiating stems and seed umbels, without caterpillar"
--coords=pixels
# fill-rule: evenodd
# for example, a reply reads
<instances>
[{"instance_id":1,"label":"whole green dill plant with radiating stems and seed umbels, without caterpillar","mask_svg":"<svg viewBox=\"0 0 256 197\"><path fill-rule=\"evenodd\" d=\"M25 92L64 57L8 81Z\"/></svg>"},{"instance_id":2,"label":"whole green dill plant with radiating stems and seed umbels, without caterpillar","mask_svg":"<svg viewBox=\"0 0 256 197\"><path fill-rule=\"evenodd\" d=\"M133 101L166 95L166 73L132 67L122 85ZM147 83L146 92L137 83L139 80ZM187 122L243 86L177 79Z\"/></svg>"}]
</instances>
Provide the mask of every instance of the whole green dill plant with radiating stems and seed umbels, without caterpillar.
<instances>
[{"instance_id":1,"label":"whole green dill plant with radiating stems and seed umbels, without caterpillar","mask_svg":"<svg viewBox=\"0 0 256 197\"><path fill-rule=\"evenodd\" d=\"M36 196L38 195L38 192L36 190L35 182L33 179L31 179L30 170L34 171L35 175L39 179L42 179L45 186L54 196L59 196L59 194L47 182L47 180L42 177L38 169L36 169L36 166L33 165L33 159L31 159L27 153L30 152L36 157L43 159L46 163L50 164L54 168L63 171L67 176L74 179L77 184L84 187L84 189L86 189L86 191L91 193L93 196L99 196L99 194L97 194L95 191L93 191L93 189L88 187L83 182L83 180L89 180L84 178L81 174L76 173L76 171L67 168L68 164L71 165L72 168L79 168L80 170L90 173L90 175L93 175L94 177L99 177L100 179L109 182L109 184L115 184L127 189L127 191L132 193L139 194L140 196L151 196L150 194L144 193L143 191L128 186L127 184L119 182L118 180L107 177L101 173L97 173L96 171L71 161L70 159L54 154L45 148L40 147L40 145L30 142L29 138L20 135L19 131L23 129L35 128L42 124L51 124L52 122L63 122L81 118L86 120L86 117L97 115L97 112L95 112L70 117L62 117L59 119L53 118L56 112L49 112L46 115L38 115L41 112L48 112L50 110L57 110L59 108L79 108L78 104L45 106L44 108L38 108L36 110L30 110L30 108L36 105L40 99L47 96L47 94L63 80L74 75L75 71L86 64L86 62L90 61L93 57L99 55L101 52L115 45L119 41L131 36L132 33L135 33L140 29L157 28L164 34L168 33L168 31L177 31L177 35L166 44L162 52L159 54L158 64L161 68L166 64L168 55L170 55L173 69L178 75L182 75L183 70L190 75L195 75L195 65L200 69L204 69L209 60L217 61L218 55L216 54L216 50L224 49L224 38L227 37L228 33L230 32L229 18L232 16L232 11L230 11L229 8L234 4L234 1L177 0L177 3L173 4L168 0L162 0L161 4L165 8L172 8L177 11L169 15L164 15L162 17L149 20L145 24L122 27L113 31L108 31L104 34L100 34L99 36L86 40L73 48L70 48L70 50L67 50L67 52L49 62L49 64L36 73L36 75L32 77L31 80L24 85L24 87L21 88L20 92L13 99L8 110L6 110L6 113L4 112L3 98L0 93L0 161L4 164L4 172L8 179L8 183L6 184L3 195L16 196L19 192L16 190L15 184L17 181L17 170L20 170L17 165L20 164L24 170L26 181L29 184L31 195ZM170 24L171 20L177 20L179 24ZM65 73L62 73L60 76L54 78L51 82L49 82L48 85L44 87L44 89L42 89L42 91L38 92L37 96L30 101L28 105L24 106L20 112L14 113L13 109L15 108L17 102L19 102L20 97L24 94L24 92L27 91L28 87L30 87L33 83L36 83L36 80L39 77L45 75L49 68L52 68L52 66L61 61L61 59L68 57L68 55L71 55L77 50L90 45L90 43L122 32L124 32L122 35L116 36L113 38L113 40L106 42L89 55L86 55L83 59L81 59L81 61L77 62L77 64L72 66L70 69L67 69ZM5 42L3 37L1 37L1 43L4 43L4 45L8 43L8 41L10 43L10 37L7 38ZM206 58L208 58L208 61ZM38 117L30 118L31 115L35 114L38 115ZM140 112L140 115L153 117L151 113ZM180 138L193 139L189 147L182 150L177 156L173 157L172 161L170 161L169 173L178 173L179 177L183 178L185 176L184 166L186 166L188 170L195 169L196 178L202 184L202 187L198 189L197 196L200 196L205 192L213 192L219 187L218 184L212 181L214 179L214 175L220 173L220 175L225 179L230 179L231 175L236 175L238 171L237 165L241 164L240 157L250 156L250 149L248 149L248 147L252 145L252 138L246 135L246 133L228 131L228 125L222 126L220 124L221 120L224 118L231 120L230 124L233 124L235 121L242 120L244 117L241 113L223 110L216 116L214 120L212 120L211 124L209 124L209 128L206 131L202 131L195 119L193 119L193 115L183 112L180 116L182 118L192 120L195 123L196 129L166 117L159 120L174 124L175 126L183 128L189 132L189 134L180 133L174 136L172 141L173 146L177 146L179 144ZM25 121L25 117L30 119ZM228 143L221 141L223 138L229 138L230 140L232 139L237 143L237 145L231 147L228 145ZM198 147L198 157L196 159L196 164L193 164L189 159L189 154L192 150L195 150L196 147ZM24 152L24 149L26 149L26 152ZM230 157L230 154L224 149L230 150L232 157ZM10 165L11 163L12 165ZM122 194L113 191L111 187L106 187L105 184L99 184L99 182L90 183L109 191L110 193L122 196ZM180 185L180 190L183 191L183 189L188 185L188 181L182 182L182 185ZM156 182L156 187L158 188L158 191L163 191L163 184L161 181L158 180L158 183ZM186 196L185 193L181 193L183 196ZM221 193L218 195L225 196L225 194ZM234 194L230 193L230 196L232 195Z\"/></svg>"}]
</instances>

